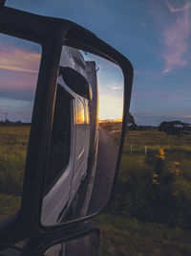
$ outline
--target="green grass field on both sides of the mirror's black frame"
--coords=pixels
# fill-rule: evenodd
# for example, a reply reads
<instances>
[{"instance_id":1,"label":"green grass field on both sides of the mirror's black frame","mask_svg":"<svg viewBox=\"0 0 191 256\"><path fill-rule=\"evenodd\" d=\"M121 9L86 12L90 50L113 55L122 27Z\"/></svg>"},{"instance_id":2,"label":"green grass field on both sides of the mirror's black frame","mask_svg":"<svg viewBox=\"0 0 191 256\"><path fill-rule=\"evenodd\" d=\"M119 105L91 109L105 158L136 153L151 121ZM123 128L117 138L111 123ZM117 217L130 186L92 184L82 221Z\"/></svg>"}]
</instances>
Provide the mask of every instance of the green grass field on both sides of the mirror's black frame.
<instances>
[{"instance_id":1,"label":"green grass field on both sides of the mirror's black frame","mask_svg":"<svg viewBox=\"0 0 191 256\"><path fill-rule=\"evenodd\" d=\"M20 206L29 132L29 127L0 128L0 221ZM118 141L117 132L113 137ZM191 255L190 155L189 134L177 138L157 130L128 132L115 198L94 219L101 231L99 255ZM174 162L179 162L179 172ZM156 174L159 184L153 183ZM173 205L165 198L169 195ZM163 206L158 208L159 203Z\"/></svg>"}]
</instances>

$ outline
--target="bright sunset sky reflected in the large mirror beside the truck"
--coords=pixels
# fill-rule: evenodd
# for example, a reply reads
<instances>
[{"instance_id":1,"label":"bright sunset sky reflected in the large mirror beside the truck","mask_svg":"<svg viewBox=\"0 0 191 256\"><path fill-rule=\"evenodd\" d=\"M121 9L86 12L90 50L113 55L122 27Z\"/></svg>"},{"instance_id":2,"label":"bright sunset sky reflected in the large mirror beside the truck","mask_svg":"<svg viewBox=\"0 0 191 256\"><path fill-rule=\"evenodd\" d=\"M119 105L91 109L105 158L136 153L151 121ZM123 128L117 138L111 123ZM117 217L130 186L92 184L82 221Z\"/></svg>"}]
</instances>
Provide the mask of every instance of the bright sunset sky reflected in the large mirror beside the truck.
<instances>
[{"instance_id":1,"label":"bright sunset sky reflected in the large mirror beside the truck","mask_svg":"<svg viewBox=\"0 0 191 256\"><path fill-rule=\"evenodd\" d=\"M121 121L123 108L123 74L121 69L107 59L89 53L83 54L83 52L82 55L86 61L96 62L98 119Z\"/></svg>"}]
</instances>

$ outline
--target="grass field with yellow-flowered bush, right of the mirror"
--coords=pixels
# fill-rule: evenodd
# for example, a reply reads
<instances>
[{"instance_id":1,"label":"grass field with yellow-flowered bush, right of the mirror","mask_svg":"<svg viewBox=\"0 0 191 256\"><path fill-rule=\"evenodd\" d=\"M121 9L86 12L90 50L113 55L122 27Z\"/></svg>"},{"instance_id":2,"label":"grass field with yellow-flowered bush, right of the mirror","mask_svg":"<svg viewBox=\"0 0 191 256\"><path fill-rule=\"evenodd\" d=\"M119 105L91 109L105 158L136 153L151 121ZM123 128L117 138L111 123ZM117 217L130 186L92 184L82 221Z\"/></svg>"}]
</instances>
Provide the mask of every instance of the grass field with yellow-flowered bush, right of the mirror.
<instances>
[{"instance_id":1,"label":"grass field with yellow-flowered bush, right of the mirror","mask_svg":"<svg viewBox=\"0 0 191 256\"><path fill-rule=\"evenodd\" d=\"M190 166L191 134L128 131L99 255L191 255Z\"/></svg>"}]
</instances>

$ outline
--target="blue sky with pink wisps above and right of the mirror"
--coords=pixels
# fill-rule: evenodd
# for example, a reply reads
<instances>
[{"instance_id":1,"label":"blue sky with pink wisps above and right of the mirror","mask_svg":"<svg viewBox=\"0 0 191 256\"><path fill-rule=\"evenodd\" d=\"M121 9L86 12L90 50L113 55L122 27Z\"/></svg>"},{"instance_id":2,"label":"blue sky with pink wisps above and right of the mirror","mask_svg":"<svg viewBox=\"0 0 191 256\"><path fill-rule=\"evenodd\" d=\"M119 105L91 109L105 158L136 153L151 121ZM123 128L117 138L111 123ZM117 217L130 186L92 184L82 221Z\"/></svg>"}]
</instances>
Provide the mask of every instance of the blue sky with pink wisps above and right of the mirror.
<instances>
[{"instance_id":1,"label":"blue sky with pink wisps above and right of the mirror","mask_svg":"<svg viewBox=\"0 0 191 256\"><path fill-rule=\"evenodd\" d=\"M138 125L159 126L171 120L191 123L190 0L7 0L6 5L72 20L129 58L135 69L130 111ZM3 44L0 41L0 46ZM39 53L34 48L26 51ZM0 57L0 72L1 65ZM110 77L105 78L109 81ZM117 87L109 82L110 88ZM117 89L111 91L108 89L106 96L115 91L117 105Z\"/></svg>"}]
</instances>

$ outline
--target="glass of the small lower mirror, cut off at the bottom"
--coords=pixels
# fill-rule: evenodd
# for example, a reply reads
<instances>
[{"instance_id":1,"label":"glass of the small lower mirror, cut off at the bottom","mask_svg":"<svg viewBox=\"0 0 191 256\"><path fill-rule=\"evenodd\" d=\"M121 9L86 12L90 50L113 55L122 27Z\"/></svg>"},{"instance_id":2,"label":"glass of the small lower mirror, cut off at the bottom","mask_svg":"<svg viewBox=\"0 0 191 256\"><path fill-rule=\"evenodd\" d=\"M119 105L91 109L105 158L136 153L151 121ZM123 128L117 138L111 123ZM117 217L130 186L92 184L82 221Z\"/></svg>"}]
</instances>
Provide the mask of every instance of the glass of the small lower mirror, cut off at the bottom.
<instances>
[{"instance_id":1,"label":"glass of the small lower mirror, cut off at the bottom","mask_svg":"<svg viewBox=\"0 0 191 256\"><path fill-rule=\"evenodd\" d=\"M55 244L44 253L46 256L96 256L98 251L98 235L92 232L74 240Z\"/></svg>"}]
</instances>

